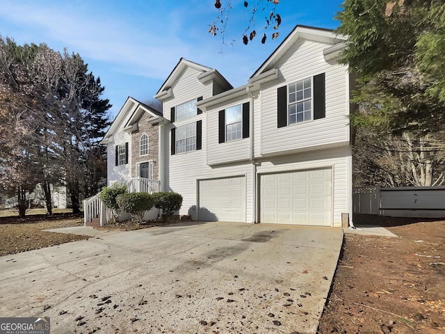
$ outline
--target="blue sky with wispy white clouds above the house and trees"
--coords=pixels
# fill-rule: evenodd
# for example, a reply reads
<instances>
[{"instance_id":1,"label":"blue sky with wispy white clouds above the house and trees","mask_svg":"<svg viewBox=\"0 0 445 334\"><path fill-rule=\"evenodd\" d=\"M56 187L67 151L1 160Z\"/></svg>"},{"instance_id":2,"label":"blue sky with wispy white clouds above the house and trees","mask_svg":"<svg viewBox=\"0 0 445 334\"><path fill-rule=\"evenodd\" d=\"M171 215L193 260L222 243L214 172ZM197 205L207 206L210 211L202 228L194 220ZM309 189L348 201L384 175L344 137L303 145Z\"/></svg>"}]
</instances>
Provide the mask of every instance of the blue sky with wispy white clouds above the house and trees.
<instances>
[{"instance_id":1,"label":"blue sky with wispy white clouds above the house and trees","mask_svg":"<svg viewBox=\"0 0 445 334\"><path fill-rule=\"evenodd\" d=\"M44 42L56 51L79 54L100 77L102 98L113 104L113 120L129 96L154 100L181 57L216 68L234 87L247 84L297 24L337 28L334 17L343 1L281 0L276 6L280 35L273 40L273 27L264 30L268 10L257 12L257 37L247 46L240 37L251 13L243 2L232 0L224 42L220 31L208 33L218 17L215 0L0 0L0 35L19 45ZM264 45L263 33L268 35Z\"/></svg>"}]
</instances>

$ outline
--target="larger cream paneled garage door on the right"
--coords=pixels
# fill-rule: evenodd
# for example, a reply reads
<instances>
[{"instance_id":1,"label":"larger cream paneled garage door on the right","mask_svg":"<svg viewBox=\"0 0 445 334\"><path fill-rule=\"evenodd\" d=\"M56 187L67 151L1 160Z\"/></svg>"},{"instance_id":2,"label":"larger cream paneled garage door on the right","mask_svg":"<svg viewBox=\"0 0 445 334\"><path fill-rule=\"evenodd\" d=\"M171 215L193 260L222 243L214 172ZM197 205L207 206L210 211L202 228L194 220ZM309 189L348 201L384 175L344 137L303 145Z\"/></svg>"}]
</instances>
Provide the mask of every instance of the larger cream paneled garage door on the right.
<instances>
[{"instance_id":1,"label":"larger cream paneled garage door on the right","mask_svg":"<svg viewBox=\"0 0 445 334\"><path fill-rule=\"evenodd\" d=\"M260 175L261 223L331 225L331 169Z\"/></svg>"}]
</instances>

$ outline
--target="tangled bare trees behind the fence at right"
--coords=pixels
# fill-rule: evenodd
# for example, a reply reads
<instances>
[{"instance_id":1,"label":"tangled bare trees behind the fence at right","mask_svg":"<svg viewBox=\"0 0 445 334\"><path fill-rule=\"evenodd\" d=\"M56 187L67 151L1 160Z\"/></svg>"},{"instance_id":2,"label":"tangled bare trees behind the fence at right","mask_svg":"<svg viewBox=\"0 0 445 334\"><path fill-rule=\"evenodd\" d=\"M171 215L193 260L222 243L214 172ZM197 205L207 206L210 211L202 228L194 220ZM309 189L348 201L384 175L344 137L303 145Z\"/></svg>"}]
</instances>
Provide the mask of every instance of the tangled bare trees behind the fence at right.
<instances>
[{"instance_id":1,"label":"tangled bare trees behind the fence at right","mask_svg":"<svg viewBox=\"0 0 445 334\"><path fill-rule=\"evenodd\" d=\"M353 147L354 184L440 186L445 182L444 162L439 136L382 136L362 128Z\"/></svg>"}]
</instances>

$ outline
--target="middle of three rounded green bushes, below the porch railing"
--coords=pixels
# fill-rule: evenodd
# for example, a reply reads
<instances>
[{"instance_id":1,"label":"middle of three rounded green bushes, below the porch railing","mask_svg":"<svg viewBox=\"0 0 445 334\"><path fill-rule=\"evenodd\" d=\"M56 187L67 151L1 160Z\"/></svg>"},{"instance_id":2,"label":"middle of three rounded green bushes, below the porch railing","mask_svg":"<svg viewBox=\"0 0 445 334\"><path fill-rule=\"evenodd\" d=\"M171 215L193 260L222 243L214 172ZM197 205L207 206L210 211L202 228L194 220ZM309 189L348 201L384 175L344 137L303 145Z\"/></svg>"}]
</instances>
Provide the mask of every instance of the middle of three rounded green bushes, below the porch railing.
<instances>
[{"instance_id":1,"label":"middle of three rounded green bushes, below the porch railing","mask_svg":"<svg viewBox=\"0 0 445 334\"><path fill-rule=\"evenodd\" d=\"M153 196L149 193L123 193L116 198L120 209L131 218L141 223L146 211L152 209L154 204Z\"/></svg>"}]
</instances>

